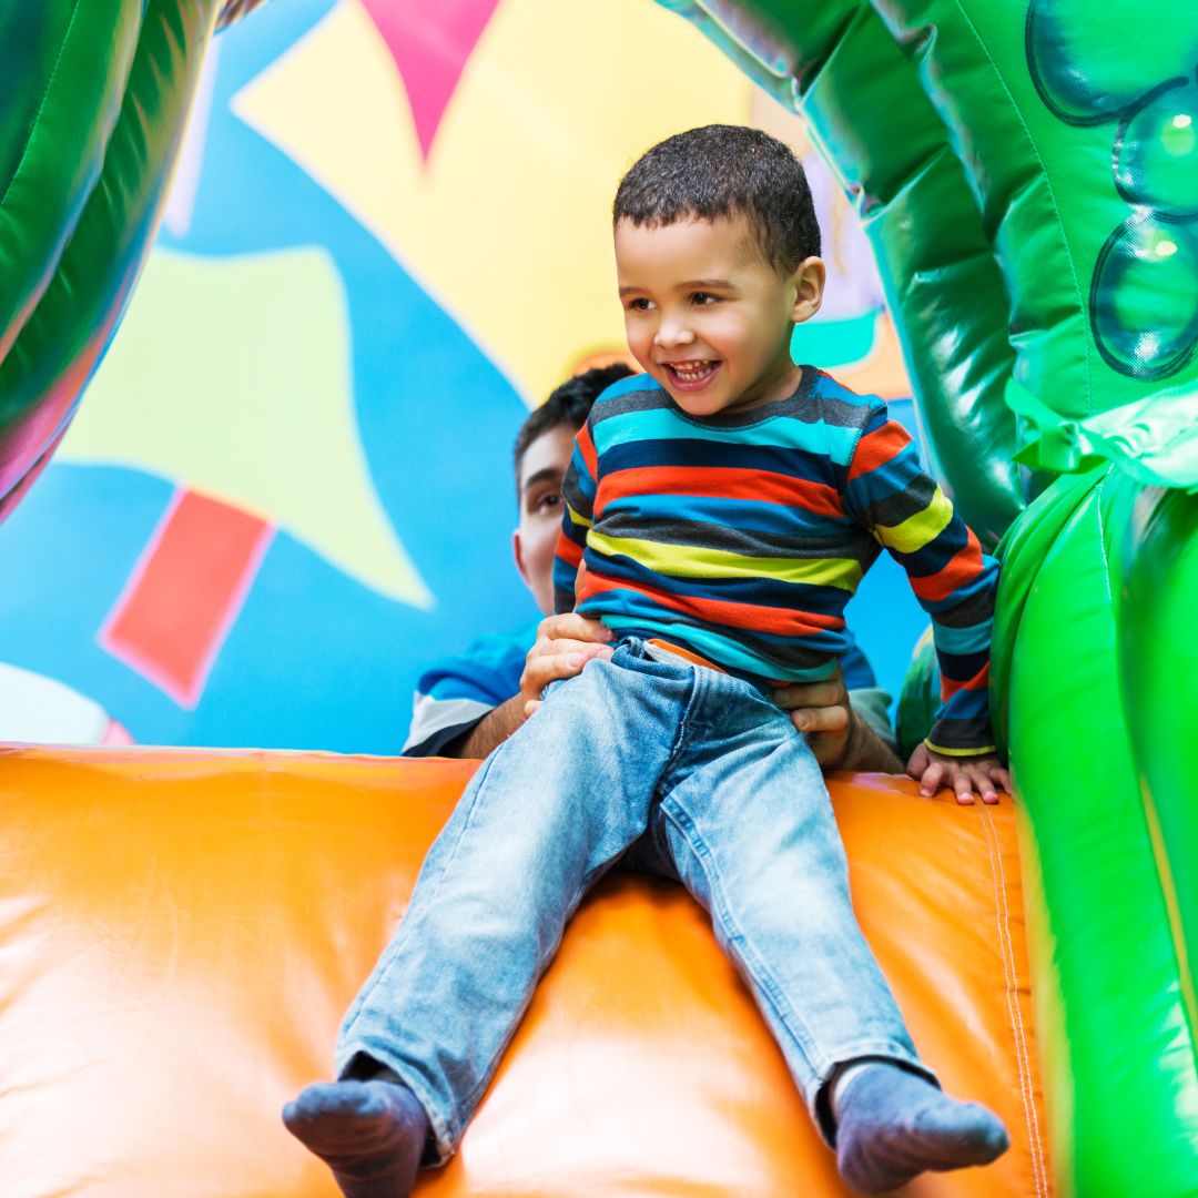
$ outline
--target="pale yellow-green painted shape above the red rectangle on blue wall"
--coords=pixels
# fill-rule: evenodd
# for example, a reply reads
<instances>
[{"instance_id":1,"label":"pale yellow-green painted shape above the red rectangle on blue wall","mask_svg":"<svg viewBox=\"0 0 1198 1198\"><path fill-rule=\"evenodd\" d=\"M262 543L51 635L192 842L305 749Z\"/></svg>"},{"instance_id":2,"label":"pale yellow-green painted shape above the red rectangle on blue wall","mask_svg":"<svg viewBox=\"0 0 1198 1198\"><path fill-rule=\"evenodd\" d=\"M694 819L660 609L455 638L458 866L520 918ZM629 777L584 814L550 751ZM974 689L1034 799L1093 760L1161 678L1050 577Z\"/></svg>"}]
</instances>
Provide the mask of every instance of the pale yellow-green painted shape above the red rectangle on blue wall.
<instances>
[{"instance_id":1,"label":"pale yellow-green painted shape above the red rectangle on blue wall","mask_svg":"<svg viewBox=\"0 0 1198 1198\"><path fill-rule=\"evenodd\" d=\"M349 313L321 249L155 250L58 460L169 478L285 528L389 599L432 606L370 482Z\"/></svg>"}]
</instances>

